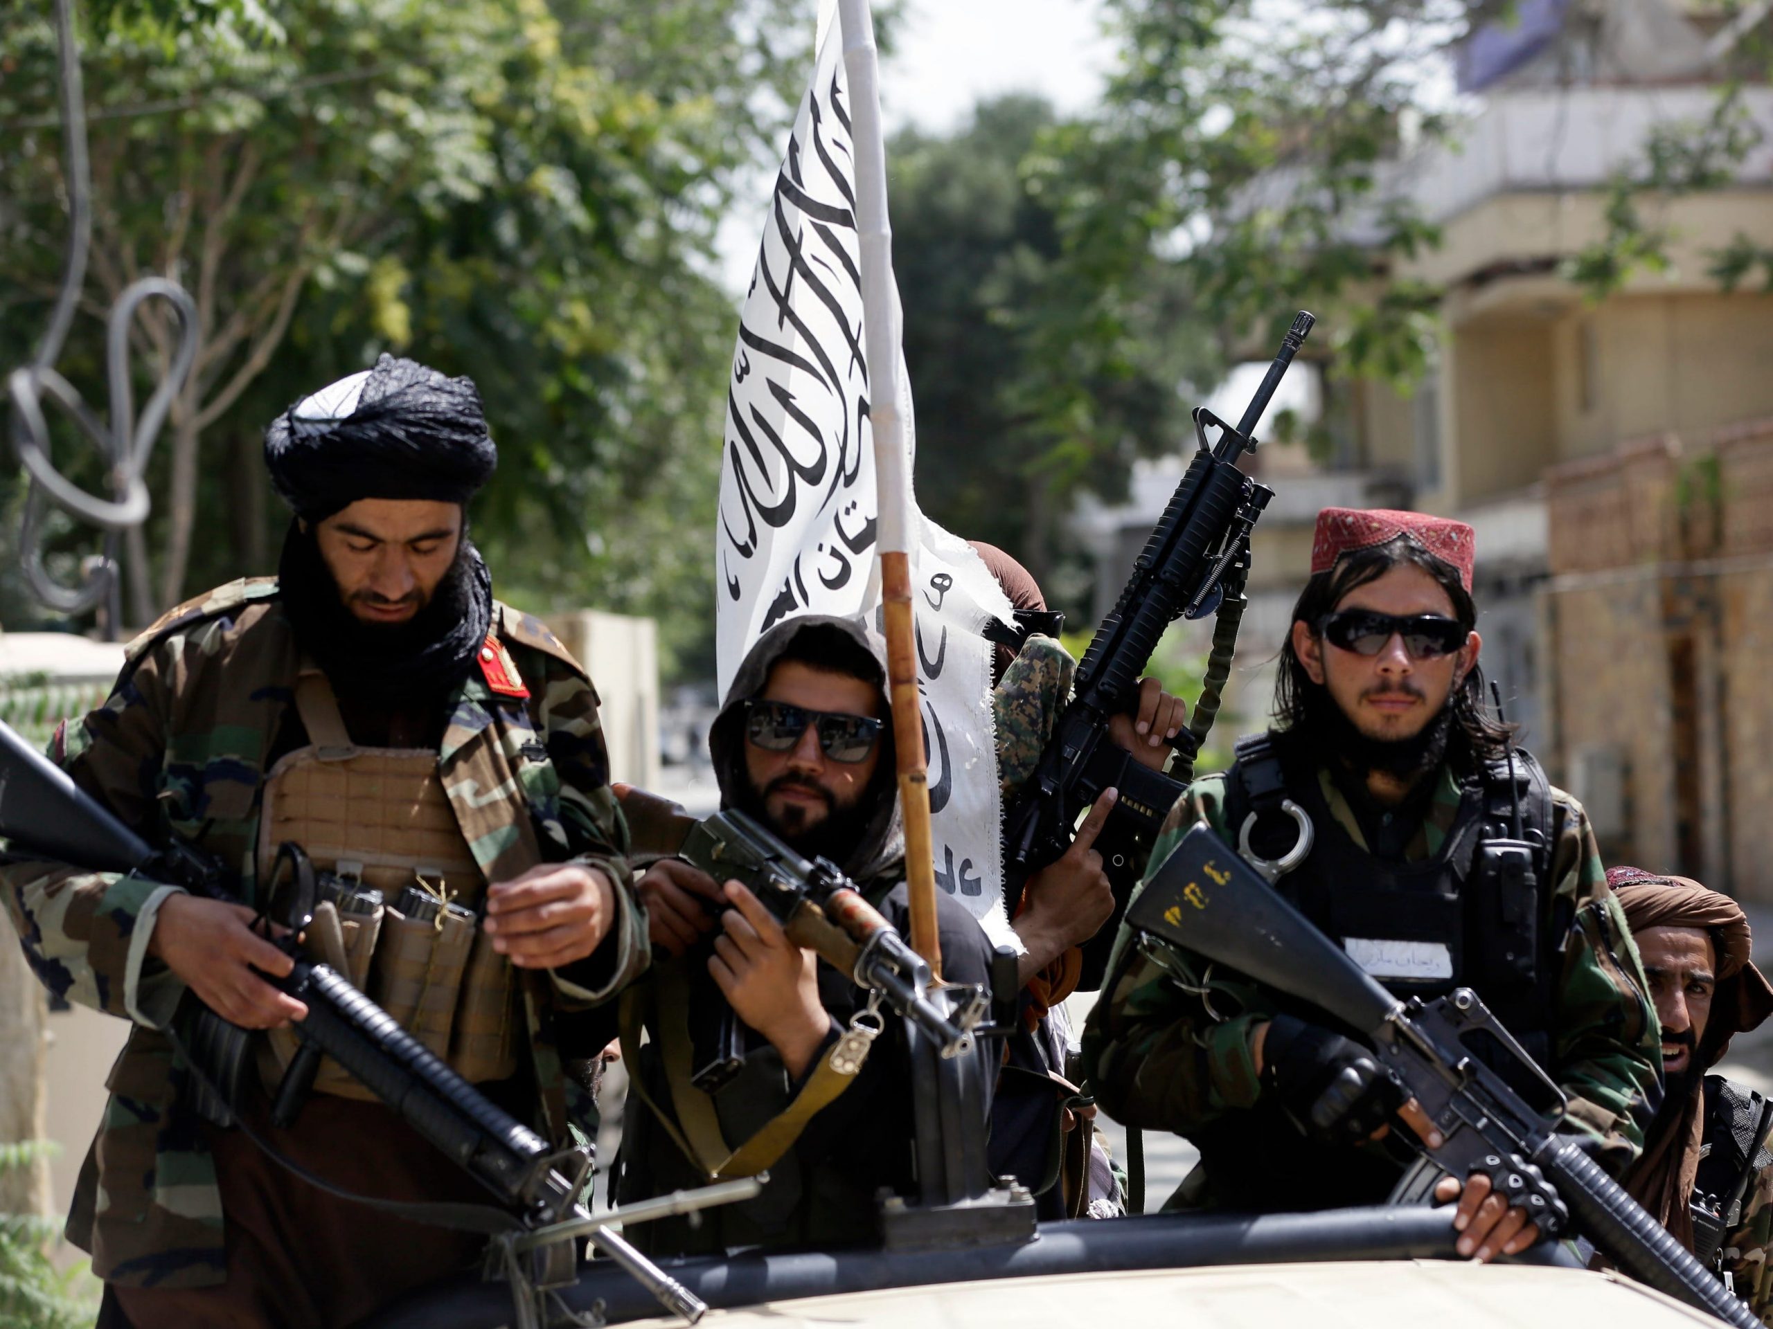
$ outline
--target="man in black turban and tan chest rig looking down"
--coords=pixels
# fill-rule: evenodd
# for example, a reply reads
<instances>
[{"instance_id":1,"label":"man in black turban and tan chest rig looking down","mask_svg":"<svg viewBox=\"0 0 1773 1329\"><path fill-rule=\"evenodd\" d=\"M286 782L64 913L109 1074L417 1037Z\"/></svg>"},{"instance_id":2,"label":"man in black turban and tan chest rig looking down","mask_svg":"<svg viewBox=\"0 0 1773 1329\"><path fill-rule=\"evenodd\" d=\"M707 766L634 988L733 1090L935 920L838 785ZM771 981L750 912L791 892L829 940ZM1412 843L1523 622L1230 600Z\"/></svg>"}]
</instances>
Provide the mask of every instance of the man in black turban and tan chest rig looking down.
<instances>
[{"instance_id":1,"label":"man in black turban and tan chest rig looking down","mask_svg":"<svg viewBox=\"0 0 1773 1329\"><path fill-rule=\"evenodd\" d=\"M149 842L197 842L238 870L239 904L4 868L44 985L131 1021L67 1221L108 1327L346 1325L479 1255L482 1239L312 1187L232 1127L351 1193L484 1201L330 1063L293 1122L271 1120L266 1088L307 1015L266 982L291 959L252 927L277 904L278 843L335 874L314 957L558 1143L587 1104L569 1102L553 1012L610 996L647 955L590 680L493 599L468 540L496 462L473 383L383 356L280 415L264 455L296 514L278 576L172 610L50 748ZM197 1003L268 1031L213 1120L179 1051Z\"/></svg>"}]
</instances>

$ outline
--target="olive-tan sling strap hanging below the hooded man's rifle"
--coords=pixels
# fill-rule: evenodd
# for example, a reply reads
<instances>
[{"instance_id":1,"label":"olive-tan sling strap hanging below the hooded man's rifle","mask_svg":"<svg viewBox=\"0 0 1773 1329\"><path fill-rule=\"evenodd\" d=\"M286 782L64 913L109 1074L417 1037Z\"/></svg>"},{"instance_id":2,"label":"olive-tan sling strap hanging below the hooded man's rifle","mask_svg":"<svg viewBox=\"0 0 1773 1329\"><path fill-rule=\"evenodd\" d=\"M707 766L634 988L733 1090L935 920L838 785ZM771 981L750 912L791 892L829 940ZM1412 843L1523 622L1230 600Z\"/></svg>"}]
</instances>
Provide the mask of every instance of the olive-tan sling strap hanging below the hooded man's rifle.
<instances>
[{"instance_id":1,"label":"olive-tan sling strap hanging below the hooded man's rifle","mask_svg":"<svg viewBox=\"0 0 1773 1329\"><path fill-rule=\"evenodd\" d=\"M660 1019L660 1061L665 1067L676 1116L663 1111L645 1086L645 1076L640 1069L644 1012L633 987L622 994L621 1006L622 1060L628 1063L628 1083L635 1086L640 1100L652 1111L660 1125L665 1127L665 1134L690 1164L711 1182L768 1171L794 1146L812 1118L837 1102L862 1070L865 1049L863 1058L842 1060L842 1069L839 1069L840 1058L835 1056L842 1044L821 1053L812 1074L807 1076L800 1093L787 1108L769 1118L757 1134L736 1150L729 1150L725 1136L720 1132L720 1113L715 1109L715 1100L690 1083L690 985L681 964L658 966L651 987Z\"/></svg>"}]
</instances>

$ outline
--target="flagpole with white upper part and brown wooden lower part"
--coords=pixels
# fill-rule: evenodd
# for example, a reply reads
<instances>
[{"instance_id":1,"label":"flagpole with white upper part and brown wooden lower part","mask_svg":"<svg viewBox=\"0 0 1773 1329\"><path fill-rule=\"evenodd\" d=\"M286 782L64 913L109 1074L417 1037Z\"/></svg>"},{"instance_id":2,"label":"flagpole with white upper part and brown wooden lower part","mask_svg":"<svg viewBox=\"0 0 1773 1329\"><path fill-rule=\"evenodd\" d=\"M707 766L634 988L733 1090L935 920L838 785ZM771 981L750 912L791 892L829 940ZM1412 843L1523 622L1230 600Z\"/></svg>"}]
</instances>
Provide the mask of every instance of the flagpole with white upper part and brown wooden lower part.
<instances>
[{"instance_id":1,"label":"flagpole with white upper part and brown wooden lower part","mask_svg":"<svg viewBox=\"0 0 1773 1329\"><path fill-rule=\"evenodd\" d=\"M886 220L886 144L881 135L879 51L869 0L839 0L844 71L856 154L856 236L862 246L862 346L869 365L869 422L874 429L874 482L879 491L876 546L886 629L886 682L894 746L899 753L899 808L904 815L904 867L911 897L911 948L941 973L936 934L936 858L929 833L929 767L924 755L924 703L917 688L911 615L911 477L904 418L899 415L899 292L892 275L892 227Z\"/></svg>"}]
</instances>

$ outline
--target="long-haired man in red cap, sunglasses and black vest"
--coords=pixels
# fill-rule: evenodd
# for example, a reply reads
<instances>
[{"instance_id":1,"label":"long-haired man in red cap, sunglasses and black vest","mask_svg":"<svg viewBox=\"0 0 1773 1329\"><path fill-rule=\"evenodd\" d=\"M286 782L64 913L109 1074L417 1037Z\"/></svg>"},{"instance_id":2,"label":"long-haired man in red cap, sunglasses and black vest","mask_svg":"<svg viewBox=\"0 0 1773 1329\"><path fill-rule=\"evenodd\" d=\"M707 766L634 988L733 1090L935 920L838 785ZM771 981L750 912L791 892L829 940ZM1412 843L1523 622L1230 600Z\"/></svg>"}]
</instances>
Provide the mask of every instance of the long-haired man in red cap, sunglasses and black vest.
<instances>
[{"instance_id":1,"label":"long-haired man in red cap, sunglasses and black vest","mask_svg":"<svg viewBox=\"0 0 1773 1329\"><path fill-rule=\"evenodd\" d=\"M1463 523L1324 509L1282 649L1280 725L1188 789L1152 863L1206 820L1399 998L1475 989L1569 1095L1564 1129L1617 1171L1654 1102L1656 1024L1582 806L1484 711L1472 563ZM1488 849L1516 808L1537 845L1525 881ZM1200 1148L1172 1205L1379 1203L1413 1162L1392 1116L1433 1136L1321 1010L1128 934L1117 957L1085 1065L1112 1116ZM1434 1194L1459 1198L1459 1255L1539 1235L1484 1173Z\"/></svg>"}]
</instances>

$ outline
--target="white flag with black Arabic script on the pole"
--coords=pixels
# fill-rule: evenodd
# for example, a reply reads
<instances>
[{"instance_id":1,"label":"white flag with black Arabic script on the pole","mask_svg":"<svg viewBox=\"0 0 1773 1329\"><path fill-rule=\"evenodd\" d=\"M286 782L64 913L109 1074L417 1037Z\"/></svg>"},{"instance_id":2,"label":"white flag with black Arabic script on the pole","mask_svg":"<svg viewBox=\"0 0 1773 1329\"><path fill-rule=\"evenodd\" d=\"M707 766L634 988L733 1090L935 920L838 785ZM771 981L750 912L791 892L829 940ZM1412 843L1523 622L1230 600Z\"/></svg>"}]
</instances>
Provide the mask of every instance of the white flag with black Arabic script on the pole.
<instances>
[{"instance_id":1,"label":"white flag with black Arabic script on the pole","mask_svg":"<svg viewBox=\"0 0 1773 1329\"><path fill-rule=\"evenodd\" d=\"M830 11L819 30L732 354L715 530L722 696L782 618L874 615L881 599L849 94ZM915 455L908 386L901 397ZM936 884L1007 939L993 647L980 633L1012 611L972 546L915 500L910 530Z\"/></svg>"}]
</instances>

